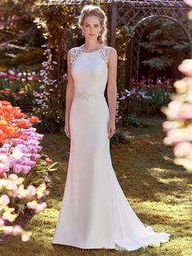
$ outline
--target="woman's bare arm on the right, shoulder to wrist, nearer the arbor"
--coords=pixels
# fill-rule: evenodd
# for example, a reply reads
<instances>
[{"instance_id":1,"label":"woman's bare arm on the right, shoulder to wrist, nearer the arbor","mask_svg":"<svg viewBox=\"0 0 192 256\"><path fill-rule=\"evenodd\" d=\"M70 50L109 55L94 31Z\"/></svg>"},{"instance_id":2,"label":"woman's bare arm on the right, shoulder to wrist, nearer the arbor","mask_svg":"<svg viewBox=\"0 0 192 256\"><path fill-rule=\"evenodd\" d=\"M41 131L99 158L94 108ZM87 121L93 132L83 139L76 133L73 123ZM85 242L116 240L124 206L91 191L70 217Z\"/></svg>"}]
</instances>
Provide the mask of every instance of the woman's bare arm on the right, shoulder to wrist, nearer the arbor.
<instances>
[{"instance_id":1,"label":"woman's bare arm on the right, shoulder to wrist, nearer the arbor","mask_svg":"<svg viewBox=\"0 0 192 256\"><path fill-rule=\"evenodd\" d=\"M109 104L110 120L116 121L116 73L117 73L117 53L115 48L111 48L108 57L108 82L107 99Z\"/></svg>"}]
</instances>

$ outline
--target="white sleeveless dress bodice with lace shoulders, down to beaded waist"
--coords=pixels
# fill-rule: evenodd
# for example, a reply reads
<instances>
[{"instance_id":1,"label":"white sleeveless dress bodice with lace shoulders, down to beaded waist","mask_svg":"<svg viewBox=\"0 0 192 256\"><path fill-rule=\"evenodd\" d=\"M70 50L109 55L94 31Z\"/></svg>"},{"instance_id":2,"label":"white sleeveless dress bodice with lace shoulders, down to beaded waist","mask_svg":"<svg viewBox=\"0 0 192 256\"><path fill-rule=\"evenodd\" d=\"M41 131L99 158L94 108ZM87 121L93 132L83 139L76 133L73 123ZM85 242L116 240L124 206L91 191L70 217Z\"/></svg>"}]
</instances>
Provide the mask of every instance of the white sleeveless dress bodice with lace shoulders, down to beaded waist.
<instances>
[{"instance_id":1,"label":"white sleeveless dress bodice with lace shoulders, down to beaded waist","mask_svg":"<svg viewBox=\"0 0 192 256\"><path fill-rule=\"evenodd\" d=\"M85 52L81 47L73 47L70 50L75 97L86 101L104 99L111 48L111 46L103 46L93 52Z\"/></svg>"}]
</instances>

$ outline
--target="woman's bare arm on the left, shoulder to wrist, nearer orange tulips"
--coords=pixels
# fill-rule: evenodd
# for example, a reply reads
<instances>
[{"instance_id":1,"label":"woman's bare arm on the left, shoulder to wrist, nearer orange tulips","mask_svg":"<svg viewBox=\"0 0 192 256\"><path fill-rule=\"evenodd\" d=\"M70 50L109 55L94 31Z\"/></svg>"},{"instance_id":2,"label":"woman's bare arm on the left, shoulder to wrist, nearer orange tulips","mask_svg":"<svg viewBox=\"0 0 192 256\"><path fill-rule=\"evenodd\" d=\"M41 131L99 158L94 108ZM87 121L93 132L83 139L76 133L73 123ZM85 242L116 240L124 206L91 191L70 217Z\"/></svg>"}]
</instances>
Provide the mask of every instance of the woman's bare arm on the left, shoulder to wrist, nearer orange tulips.
<instances>
[{"instance_id":1,"label":"woman's bare arm on the left, shoulder to wrist, nearer orange tulips","mask_svg":"<svg viewBox=\"0 0 192 256\"><path fill-rule=\"evenodd\" d=\"M72 99L74 94L74 82L72 78L72 64L71 64L71 50L68 51L68 85L66 90L66 108L65 108L65 123L69 123L70 109L72 106Z\"/></svg>"}]
</instances>

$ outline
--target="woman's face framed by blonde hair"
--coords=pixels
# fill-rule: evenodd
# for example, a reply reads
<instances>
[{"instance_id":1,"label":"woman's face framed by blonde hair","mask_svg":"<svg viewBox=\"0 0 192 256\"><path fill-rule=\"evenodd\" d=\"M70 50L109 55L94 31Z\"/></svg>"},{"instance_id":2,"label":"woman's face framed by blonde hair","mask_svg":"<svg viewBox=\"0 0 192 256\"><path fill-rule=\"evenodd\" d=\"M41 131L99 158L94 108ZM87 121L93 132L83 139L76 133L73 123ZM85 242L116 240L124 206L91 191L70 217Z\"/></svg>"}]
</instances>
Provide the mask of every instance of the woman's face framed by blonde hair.
<instances>
[{"instance_id":1,"label":"woman's face framed by blonde hair","mask_svg":"<svg viewBox=\"0 0 192 256\"><path fill-rule=\"evenodd\" d=\"M97 16L89 16L84 20L81 26L82 32L85 34L85 38L97 39L102 27Z\"/></svg>"}]
</instances>

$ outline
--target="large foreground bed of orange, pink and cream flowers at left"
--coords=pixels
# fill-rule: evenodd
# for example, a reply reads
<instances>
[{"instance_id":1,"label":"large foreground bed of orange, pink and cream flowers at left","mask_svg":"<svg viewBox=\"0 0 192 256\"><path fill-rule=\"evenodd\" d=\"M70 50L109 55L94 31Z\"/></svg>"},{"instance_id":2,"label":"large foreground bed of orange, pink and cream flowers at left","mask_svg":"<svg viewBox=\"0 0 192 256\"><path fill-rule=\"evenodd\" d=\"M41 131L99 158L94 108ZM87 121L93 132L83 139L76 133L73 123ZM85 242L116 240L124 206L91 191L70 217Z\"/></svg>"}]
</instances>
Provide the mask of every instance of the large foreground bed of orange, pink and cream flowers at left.
<instances>
[{"instance_id":1,"label":"large foreground bed of orange, pink and cream flowers at left","mask_svg":"<svg viewBox=\"0 0 192 256\"><path fill-rule=\"evenodd\" d=\"M57 164L40 154L43 135L32 127L37 122L38 117L26 117L20 108L0 101L0 232L21 235L22 241L28 241L32 232L10 223L26 208L34 214L45 210L48 174Z\"/></svg>"}]
</instances>

